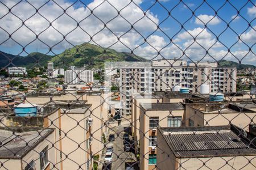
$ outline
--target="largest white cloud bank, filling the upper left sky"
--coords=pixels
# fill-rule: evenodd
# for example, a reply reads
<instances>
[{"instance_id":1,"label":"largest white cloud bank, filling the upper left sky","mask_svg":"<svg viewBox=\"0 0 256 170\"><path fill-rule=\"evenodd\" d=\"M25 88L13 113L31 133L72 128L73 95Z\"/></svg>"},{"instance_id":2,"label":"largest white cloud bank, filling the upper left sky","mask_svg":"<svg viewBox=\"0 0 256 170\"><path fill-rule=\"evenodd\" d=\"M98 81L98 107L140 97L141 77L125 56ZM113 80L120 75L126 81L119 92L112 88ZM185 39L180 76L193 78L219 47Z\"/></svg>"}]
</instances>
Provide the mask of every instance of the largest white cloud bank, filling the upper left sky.
<instances>
[{"instance_id":1,"label":"largest white cloud bank, filling the upper left sky","mask_svg":"<svg viewBox=\"0 0 256 170\"><path fill-rule=\"evenodd\" d=\"M36 0L32 1L32 5L39 8L45 2L46 1ZM138 7L142 3L141 0L133 1L138 6L134 3L130 3L129 0L109 0L108 2L114 7L103 0L95 0L92 3L89 3L87 7L82 5L72 6L72 3L65 2L64 0L58 0L55 2L57 4L50 1L39 9L39 13L46 18L44 19L39 14L32 16L36 12L35 8L27 2L22 1L13 7L13 12L22 20L27 19L24 23L29 29L25 25L20 27L22 25L22 20L16 18L12 14L7 14L1 19L1 27L10 34L17 30L12 35L12 38L23 46L34 41L36 39L36 35L39 35L39 39L49 46L54 46L60 42L60 44L54 46L53 49L64 49L71 47L72 45L89 42L90 37L93 37L93 41L96 42L96 44L108 47L118 41L117 36L122 35L120 41L133 49L141 40L143 40L143 37L136 31L144 33L145 35L143 36L146 37L147 33L150 34L157 29L157 25L159 23L158 17L150 11L147 11L146 16L144 16L144 11ZM15 5L14 1L5 0L3 3L9 7ZM68 8L66 13L75 20L67 14L64 14L63 9L58 5L64 9ZM8 10L1 4L0 7L0 16L3 16L8 12ZM115 8L118 11L121 11L121 16L118 16ZM93 15L90 10L93 10ZM58 16L60 17L58 18ZM50 27L49 22L52 22ZM77 27L77 23L79 23L79 27ZM106 27L108 28L104 28L104 23L106 23ZM133 24L136 31L131 29L131 24ZM126 33L127 31L129 32ZM124 33L125 35L123 35ZM63 36L65 36L65 39L68 42L65 40L62 41ZM8 38L9 35L0 29L0 43ZM90 42L94 43L93 41ZM15 44L16 43L14 41L9 40L3 45L13 46ZM30 46L33 45L34 48L38 48L39 46L42 47L42 42L34 41ZM122 51L129 50L125 45L118 42L112 46L112 48ZM43 45L43 47L49 48L46 45Z\"/></svg>"}]
</instances>

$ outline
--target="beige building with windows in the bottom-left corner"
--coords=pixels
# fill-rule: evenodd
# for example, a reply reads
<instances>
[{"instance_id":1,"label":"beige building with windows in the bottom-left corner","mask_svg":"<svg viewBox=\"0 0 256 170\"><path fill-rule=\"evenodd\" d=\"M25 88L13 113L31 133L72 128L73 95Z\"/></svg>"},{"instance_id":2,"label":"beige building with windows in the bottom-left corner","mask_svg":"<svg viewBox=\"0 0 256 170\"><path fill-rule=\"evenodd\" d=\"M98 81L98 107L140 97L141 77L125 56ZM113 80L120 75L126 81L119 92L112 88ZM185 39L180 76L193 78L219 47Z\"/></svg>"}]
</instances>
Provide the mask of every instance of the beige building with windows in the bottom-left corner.
<instances>
[{"instance_id":1,"label":"beige building with windows in the bottom-left corner","mask_svg":"<svg viewBox=\"0 0 256 170\"><path fill-rule=\"evenodd\" d=\"M0 128L0 169L53 169L55 129Z\"/></svg>"}]
</instances>

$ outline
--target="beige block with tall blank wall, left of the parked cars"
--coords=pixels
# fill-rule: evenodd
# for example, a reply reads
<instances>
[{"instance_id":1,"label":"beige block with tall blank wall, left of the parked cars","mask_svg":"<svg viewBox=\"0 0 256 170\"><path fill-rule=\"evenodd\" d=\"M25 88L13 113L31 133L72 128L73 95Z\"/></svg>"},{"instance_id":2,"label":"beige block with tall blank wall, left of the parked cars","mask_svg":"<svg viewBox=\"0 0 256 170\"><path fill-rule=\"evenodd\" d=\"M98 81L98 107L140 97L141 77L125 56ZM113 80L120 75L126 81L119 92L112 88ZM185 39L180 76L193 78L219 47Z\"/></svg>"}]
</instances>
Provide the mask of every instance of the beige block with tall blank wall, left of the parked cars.
<instances>
[{"instance_id":1,"label":"beige block with tall blank wall, left of the parked cars","mask_svg":"<svg viewBox=\"0 0 256 170\"><path fill-rule=\"evenodd\" d=\"M30 117L20 117L12 109L2 108L1 126L53 128L56 142L52 142L51 147L53 144L56 148L55 168L92 169L92 145L97 140L91 135L92 105L76 100L51 100L48 104L33 105L38 111L36 116Z\"/></svg>"}]
</instances>

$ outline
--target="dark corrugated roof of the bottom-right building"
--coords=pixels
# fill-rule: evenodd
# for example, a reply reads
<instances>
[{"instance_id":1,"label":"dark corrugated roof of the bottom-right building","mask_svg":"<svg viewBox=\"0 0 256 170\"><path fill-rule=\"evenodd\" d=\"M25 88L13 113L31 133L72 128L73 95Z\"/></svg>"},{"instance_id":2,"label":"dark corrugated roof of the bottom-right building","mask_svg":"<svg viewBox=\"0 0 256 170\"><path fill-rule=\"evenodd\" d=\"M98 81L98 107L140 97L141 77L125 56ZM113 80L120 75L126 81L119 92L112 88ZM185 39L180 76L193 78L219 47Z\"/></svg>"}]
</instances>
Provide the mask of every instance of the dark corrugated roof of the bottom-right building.
<instances>
[{"instance_id":1,"label":"dark corrugated roof of the bottom-right building","mask_svg":"<svg viewBox=\"0 0 256 170\"><path fill-rule=\"evenodd\" d=\"M256 155L255 146L238 137L236 126L160 128L178 158ZM236 129L236 130L233 130ZM254 136L255 137L255 136Z\"/></svg>"}]
</instances>

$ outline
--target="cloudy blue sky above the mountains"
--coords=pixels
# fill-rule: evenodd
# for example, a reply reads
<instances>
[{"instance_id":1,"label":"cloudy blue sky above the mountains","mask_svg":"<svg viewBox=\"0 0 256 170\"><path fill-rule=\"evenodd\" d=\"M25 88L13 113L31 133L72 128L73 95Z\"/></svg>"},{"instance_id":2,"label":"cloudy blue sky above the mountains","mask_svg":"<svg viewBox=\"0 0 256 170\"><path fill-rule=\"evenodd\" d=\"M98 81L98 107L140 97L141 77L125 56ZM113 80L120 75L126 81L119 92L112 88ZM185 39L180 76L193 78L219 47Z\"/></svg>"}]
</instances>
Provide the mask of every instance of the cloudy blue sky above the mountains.
<instances>
[{"instance_id":1,"label":"cloudy blue sky above the mountains","mask_svg":"<svg viewBox=\"0 0 256 170\"><path fill-rule=\"evenodd\" d=\"M147 59L256 65L255 1L19 1L0 0L6 53L55 55L89 42Z\"/></svg>"}]
</instances>

